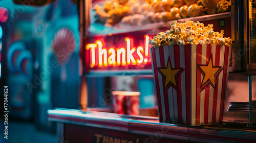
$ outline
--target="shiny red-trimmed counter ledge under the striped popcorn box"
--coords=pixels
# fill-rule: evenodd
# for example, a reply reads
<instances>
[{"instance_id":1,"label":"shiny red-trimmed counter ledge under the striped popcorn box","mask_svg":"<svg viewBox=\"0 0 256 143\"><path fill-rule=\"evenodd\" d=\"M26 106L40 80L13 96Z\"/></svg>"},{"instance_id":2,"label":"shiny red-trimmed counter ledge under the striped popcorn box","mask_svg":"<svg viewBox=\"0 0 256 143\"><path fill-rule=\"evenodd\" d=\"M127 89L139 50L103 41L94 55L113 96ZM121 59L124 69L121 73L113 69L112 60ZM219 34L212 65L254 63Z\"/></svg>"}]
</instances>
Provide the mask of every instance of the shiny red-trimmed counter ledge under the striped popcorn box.
<instances>
[{"instance_id":1,"label":"shiny red-trimmed counter ledge under the striped popcorn box","mask_svg":"<svg viewBox=\"0 0 256 143\"><path fill-rule=\"evenodd\" d=\"M189 139L224 139L244 142L256 141L256 127L213 124L213 125L177 125L159 123L158 117L132 116L115 113L82 111L72 109L48 110L49 121L90 126L124 131L133 134L154 135L162 133L163 137L188 137ZM204 140L202 140L204 141Z\"/></svg>"}]
</instances>

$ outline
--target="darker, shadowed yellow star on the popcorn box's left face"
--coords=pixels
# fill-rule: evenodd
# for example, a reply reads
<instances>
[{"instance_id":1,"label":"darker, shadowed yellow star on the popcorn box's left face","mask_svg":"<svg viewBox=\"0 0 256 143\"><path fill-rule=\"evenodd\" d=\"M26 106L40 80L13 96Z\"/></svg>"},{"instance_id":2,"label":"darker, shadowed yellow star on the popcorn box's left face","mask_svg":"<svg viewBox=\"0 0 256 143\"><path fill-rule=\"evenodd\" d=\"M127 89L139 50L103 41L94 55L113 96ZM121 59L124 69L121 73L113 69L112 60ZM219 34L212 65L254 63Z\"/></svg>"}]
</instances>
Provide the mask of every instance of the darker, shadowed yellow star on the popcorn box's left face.
<instances>
[{"instance_id":1,"label":"darker, shadowed yellow star on the popcorn box's left face","mask_svg":"<svg viewBox=\"0 0 256 143\"><path fill-rule=\"evenodd\" d=\"M158 71L165 78L164 89L171 85L178 91L177 78L182 73L183 68L172 68L170 59L168 59L166 67L159 67Z\"/></svg>"}]
</instances>

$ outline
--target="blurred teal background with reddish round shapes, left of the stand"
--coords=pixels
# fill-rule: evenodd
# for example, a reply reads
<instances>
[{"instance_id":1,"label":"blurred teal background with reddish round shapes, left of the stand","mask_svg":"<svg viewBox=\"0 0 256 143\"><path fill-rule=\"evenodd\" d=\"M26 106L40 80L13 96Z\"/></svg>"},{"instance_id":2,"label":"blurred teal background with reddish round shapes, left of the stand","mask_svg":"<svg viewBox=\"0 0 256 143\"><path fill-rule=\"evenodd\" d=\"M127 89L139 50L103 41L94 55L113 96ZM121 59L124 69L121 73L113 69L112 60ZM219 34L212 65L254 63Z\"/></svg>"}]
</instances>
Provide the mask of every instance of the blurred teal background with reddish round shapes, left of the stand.
<instances>
[{"instance_id":1,"label":"blurred teal background with reddish round shapes, left of the stand","mask_svg":"<svg viewBox=\"0 0 256 143\"><path fill-rule=\"evenodd\" d=\"M58 142L47 110L79 108L78 17L76 1L0 1L0 142Z\"/></svg>"}]
</instances>

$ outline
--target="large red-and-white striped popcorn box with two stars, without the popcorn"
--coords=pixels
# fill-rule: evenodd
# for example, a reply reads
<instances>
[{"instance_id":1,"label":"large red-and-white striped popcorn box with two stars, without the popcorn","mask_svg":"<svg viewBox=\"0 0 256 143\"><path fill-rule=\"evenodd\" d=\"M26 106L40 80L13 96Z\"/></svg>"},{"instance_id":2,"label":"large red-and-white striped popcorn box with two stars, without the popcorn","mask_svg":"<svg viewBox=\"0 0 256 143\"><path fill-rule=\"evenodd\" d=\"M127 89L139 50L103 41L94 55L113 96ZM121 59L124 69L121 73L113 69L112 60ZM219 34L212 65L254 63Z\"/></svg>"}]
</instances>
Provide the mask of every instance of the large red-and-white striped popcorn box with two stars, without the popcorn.
<instances>
[{"instance_id":1,"label":"large red-and-white striped popcorn box with two stars, without the popcorn","mask_svg":"<svg viewBox=\"0 0 256 143\"><path fill-rule=\"evenodd\" d=\"M151 47L160 122L221 123L230 53L224 45Z\"/></svg>"}]
</instances>

